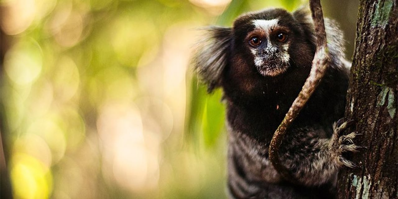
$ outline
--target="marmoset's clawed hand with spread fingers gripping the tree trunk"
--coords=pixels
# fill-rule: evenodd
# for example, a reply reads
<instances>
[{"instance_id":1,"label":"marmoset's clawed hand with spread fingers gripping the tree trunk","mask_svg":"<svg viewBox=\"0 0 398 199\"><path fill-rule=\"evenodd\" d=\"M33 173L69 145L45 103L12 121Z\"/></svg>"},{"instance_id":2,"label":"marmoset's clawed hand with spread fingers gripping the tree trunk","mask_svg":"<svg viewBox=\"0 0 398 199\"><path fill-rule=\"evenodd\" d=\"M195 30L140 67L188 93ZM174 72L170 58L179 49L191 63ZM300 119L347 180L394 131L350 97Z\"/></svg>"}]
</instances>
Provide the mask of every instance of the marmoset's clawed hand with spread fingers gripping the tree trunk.
<instances>
[{"instance_id":1,"label":"marmoset's clawed hand with spread fingers gripping the tree trunk","mask_svg":"<svg viewBox=\"0 0 398 199\"><path fill-rule=\"evenodd\" d=\"M333 158L336 159L339 166L347 166L350 168L358 167L355 163L347 160L342 154L345 152L356 152L360 146L354 144L353 139L359 135L357 132L348 135L341 133L352 125L353 121L345 121L343 118L333 124L333 135L329 143Z\"/></svg>"}]
</instances>

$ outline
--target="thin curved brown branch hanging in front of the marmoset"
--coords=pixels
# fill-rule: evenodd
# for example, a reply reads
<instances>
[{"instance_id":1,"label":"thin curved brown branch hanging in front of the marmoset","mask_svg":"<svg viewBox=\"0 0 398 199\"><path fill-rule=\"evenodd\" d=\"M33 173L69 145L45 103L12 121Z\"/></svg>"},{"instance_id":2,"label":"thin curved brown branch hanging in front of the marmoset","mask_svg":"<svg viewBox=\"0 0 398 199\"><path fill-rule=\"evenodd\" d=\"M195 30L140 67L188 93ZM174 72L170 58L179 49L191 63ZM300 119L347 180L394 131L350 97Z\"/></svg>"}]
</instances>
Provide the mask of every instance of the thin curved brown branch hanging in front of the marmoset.
<instances>
[{"instance_id":1,"label":"thin curved brown branch hanging in front of the marmoset","mask_svg":"<svg viewBox=\"0 0 398 199\"><path fill-rule=\"evenodd\" d=\"M308 101L320 80L324 76L326 69L329 66L330 58L328 55L328 47L326 45L326 32L324 25L324 18L322 14L322 7L320 0L310 0L310 9L312 13L312 20L314 21L315 35L316 35L316 52L312 60L312 68L307 80L293 102L289 111L287 112L282 123L275 131L271 143L269 144L269 160L273 167L281 174L281 176L291 182L297 182L289 170L281 164L279 159L279 148L289 126L300 113L302 107Z\"/></svg>"}]
</instances>

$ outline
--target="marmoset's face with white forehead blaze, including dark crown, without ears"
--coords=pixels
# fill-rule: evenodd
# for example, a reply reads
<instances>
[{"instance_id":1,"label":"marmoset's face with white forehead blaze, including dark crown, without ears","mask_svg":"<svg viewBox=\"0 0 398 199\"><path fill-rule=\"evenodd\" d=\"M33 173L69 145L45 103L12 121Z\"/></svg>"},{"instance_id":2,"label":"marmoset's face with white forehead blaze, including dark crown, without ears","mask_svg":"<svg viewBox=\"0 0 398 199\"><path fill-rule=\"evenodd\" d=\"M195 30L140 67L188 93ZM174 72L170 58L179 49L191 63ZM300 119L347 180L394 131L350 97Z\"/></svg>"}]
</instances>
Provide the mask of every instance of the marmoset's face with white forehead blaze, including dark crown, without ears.
<instances>
[{"instance_id":1,"label":"marmoset's face with white forehead blaze, including dark crown, without ears","mask_svg":"<svg viewBox=\"0 0 398 199\"><path fill-rule=\"evenodd\" d=\"M285 10L265 10L241 16L234 23L235 45L246 51L262 76L278 76L290 67L289 47L294 22Z\"/></svg>"}]
</instances>

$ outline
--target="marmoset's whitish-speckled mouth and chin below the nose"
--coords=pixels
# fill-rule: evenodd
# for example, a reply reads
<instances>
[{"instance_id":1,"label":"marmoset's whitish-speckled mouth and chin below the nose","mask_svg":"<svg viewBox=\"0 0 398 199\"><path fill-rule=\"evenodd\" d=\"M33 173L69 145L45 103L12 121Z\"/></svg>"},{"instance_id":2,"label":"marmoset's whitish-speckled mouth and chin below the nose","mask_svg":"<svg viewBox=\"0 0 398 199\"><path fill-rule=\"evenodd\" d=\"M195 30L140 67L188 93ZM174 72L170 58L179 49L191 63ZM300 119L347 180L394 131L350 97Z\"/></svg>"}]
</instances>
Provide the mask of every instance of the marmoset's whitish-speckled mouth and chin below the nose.
<instances>
[{"instance_id":1,"label":"marmoset's whitish-speckled mouth and chin below the nose","mask_svg":"<svg viewBox=\"0 0 398 199\"><path fill-rule=\"evenodd\" d=\"M262 76L278 76L279 74L284 73L289 67L289 64L275 59L261 59L261 63L258 61L255 62L257 71Z\"/></svg>"}]
</instances>

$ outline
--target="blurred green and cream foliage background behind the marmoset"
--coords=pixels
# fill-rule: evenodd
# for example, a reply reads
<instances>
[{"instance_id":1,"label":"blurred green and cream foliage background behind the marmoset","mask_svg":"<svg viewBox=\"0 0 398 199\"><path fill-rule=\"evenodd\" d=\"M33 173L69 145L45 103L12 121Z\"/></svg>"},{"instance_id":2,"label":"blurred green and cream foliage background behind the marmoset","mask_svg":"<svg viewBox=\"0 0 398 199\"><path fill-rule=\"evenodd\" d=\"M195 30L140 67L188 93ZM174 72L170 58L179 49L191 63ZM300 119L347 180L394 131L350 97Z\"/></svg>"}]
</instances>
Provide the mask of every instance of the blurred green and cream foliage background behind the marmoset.
<instances>
[{"instance_id":1,"label":"blurred green and cream foliage background behind the marmoset","mask_svg":"<svg viewBox=\"0 0 398 199\"><path fill-rule=\"evenodd\" d=\"M225 198L222 93L189 64L198 29L302 4L1 0L2 198ZM322 5L350 58L358 2Z\"/></svg>"}]
</instances>

